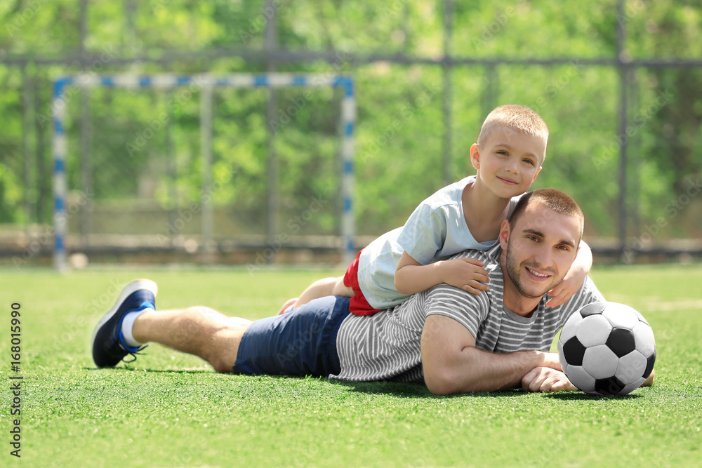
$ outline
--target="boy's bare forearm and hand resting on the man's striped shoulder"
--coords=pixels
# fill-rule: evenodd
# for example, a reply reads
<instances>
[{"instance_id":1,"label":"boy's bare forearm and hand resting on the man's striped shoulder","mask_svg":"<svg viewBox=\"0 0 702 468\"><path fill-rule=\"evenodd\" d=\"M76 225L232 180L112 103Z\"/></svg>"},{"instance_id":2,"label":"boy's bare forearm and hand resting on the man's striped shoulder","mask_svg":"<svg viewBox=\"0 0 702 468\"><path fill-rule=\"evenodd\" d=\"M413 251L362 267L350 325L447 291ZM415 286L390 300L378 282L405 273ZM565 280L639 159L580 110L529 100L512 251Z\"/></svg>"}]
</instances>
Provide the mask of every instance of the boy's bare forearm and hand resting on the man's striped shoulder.
<instances>
[{"instance_id":1,"label":"boy's bare forearm and hand resting on the man's striped shoulder","mask_svg":"<svg viewBox=\"0 0 702 468\"><path fill-rule=\"evenodd\" d=\"M480 294L488 290L485 265L475 258L454 258L421 265L409 253L403 252L395 269L395 288L402 294L414 294L446 283L468 293Z\"/></svg>"}]
</instances>

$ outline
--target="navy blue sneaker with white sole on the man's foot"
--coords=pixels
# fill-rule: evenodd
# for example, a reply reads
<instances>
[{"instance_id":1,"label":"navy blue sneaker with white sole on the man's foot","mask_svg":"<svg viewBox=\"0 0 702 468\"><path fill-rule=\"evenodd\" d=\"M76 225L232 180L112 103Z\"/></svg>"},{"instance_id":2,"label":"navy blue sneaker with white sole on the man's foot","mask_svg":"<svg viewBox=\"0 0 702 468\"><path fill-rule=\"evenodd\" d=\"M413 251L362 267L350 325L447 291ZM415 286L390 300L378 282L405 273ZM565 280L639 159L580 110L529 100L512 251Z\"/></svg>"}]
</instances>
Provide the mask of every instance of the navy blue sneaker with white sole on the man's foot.
<instances>
[{"instance_id":1,"label":"navy blue sneaker with white sole on the man's foot","mask_svg":"<svg viewBox=\"0 0 702 468\"><path fill-rule=\"evenodd\" d=\"M122 335L122 320L129 312L136 312L150 307L156 309L156 295L159 287L150 279L135 279L124 286L112 309L102 316L95 326L91 347L93 361L98 367L114 367L127 354L134 356L148 345L142 347L127 346ZM134 356L136 359L136 356ZM129 361L131 362L131 361Z\"/></svg>"}]
</instances>

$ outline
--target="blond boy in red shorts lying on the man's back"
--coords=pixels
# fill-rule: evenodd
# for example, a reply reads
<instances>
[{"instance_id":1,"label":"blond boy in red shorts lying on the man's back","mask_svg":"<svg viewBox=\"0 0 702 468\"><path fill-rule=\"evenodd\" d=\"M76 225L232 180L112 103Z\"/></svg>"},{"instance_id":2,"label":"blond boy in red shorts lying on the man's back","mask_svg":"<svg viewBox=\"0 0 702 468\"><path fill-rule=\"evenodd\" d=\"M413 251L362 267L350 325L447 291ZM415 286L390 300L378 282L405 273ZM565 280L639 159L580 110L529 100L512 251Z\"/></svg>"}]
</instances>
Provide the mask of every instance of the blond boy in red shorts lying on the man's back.
<instances>
[{"instance_id":1,"label":"blond boy in red shorts lying on the man's back","mask_svg":"<svg viewBox=\"0 0 702 468\"><path fill-rule=\"evenodd\" d=\"M470 147L476 175L430 196L403 227L361 250L345 276L315 281L279 313L327 295L351 297L352 313L372 315L440 283L476 295L488 290L483 262L442 258L494 246L503 220L541 171L547 141L548 128L536 112L519 105L497 107ZM566 302L590 271L592 253L584 242L582 247L563 281L548 292L552 296L549 307Z\"/></svg>"}]
</instances>

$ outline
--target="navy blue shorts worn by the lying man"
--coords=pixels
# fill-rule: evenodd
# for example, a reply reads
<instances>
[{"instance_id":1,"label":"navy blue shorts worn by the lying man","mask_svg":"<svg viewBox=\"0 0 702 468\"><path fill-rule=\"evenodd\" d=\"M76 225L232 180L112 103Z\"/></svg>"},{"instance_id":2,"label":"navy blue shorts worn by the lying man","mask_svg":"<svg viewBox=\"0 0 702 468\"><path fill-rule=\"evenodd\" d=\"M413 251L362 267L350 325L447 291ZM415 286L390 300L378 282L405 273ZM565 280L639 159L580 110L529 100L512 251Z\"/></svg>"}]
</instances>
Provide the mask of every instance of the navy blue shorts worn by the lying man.
<instances>
[{"instance_id":1,"label":"navy blue shorts worn by the lying man","mask_svg":"<svg viewBox=\"0 0 702 468\"><path fill-rule=\"evenodd\" d=\"M322 297L287 314L260 319L244 332L234 373L313 375L341 371L336 335L349 297Z\"/></svg>"}]
</instances>

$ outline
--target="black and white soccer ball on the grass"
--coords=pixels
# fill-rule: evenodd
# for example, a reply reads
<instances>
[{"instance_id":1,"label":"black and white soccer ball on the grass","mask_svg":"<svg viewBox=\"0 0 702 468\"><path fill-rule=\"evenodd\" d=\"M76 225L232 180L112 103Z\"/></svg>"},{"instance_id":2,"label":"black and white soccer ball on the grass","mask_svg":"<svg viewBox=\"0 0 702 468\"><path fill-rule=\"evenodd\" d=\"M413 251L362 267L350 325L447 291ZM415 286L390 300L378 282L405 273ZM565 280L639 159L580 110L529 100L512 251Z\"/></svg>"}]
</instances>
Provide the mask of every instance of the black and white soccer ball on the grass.
<instances>
[{"instance_id":1,"label":"black and white soccer ball on the grass","mask_svg":"<svg viewBox=\"0 0 702 468\"><path fill-rule=\"evenodd\" d=\"M651 375L654 332L628 305L595 302L574 312L558 339L563 372L591 395L625 395Z\"/></svg>"}]
</instances>

